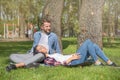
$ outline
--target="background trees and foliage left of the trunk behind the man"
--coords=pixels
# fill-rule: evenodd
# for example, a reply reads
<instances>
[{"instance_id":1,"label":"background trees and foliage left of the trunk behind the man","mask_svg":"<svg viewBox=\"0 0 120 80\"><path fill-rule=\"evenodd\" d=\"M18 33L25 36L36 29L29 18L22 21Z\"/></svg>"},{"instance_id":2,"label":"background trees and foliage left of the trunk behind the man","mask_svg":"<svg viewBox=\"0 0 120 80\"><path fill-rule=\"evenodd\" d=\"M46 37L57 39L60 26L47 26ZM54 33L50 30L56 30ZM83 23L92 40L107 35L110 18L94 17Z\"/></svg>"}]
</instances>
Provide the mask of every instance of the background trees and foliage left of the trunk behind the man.
<instances>
[{"instance_id":1,"label":"background trees and foliage left of the trunk behind the man","mask_svg":"<svg viewBox=\"0 0 120 80\"><path fill-rule=\"evenodd\" d=\"M19 36L25 38L27 24L38 24L43 4L44 0L2 0L1 19L5 23L18 24Z\"/></svg>"}]
</instances>

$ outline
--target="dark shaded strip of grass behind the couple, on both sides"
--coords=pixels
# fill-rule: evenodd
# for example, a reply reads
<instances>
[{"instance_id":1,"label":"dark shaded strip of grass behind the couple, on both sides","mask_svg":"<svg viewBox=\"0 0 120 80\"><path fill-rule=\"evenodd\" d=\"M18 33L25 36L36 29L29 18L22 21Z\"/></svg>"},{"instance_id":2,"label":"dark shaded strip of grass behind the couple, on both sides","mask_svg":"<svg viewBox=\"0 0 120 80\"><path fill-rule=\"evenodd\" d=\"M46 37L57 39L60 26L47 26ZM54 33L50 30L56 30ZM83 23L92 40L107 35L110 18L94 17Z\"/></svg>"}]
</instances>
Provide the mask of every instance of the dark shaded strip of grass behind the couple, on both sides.
<instances>
[{"instance_id":1,"label":"dark shaded strip of grass behind the couple, on both sides","mask_svg":"<svg viewBox=\"0 0 120 80\"><path fill-rule=\"evenodd\" d=\"M25 53L32 47L32 41L23 42L0 42L0 56L9 56L11 53L21 52ZM65 38L62 39L63 49L67 48L69 45L77 45L77 40L75 38ZM103 43L106 48L120 48L120 43Z\"/></svg>"}]
</instances>

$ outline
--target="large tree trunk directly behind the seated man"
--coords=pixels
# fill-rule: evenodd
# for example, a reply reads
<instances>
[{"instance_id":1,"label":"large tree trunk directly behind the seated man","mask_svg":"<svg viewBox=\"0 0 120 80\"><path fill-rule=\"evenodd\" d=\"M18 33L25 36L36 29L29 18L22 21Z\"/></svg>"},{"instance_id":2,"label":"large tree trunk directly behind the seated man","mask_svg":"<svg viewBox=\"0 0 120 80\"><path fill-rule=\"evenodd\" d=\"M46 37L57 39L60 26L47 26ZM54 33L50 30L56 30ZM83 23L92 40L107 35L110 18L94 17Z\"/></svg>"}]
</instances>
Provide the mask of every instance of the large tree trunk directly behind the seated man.
<instances>
[{"instance_id":1,"label":"large tree trunk directly behind the seated man","mask_svg":"<svg viewBox=\"0 0 120 80\"><path fill-rule=\"evenodd\" d=\"M47 16L51 19L52 31L58 35L61 50L61 16L63 10L63 3L64 0L47 0L42 15L43 17Z\"/></svg>"}]
</instances>

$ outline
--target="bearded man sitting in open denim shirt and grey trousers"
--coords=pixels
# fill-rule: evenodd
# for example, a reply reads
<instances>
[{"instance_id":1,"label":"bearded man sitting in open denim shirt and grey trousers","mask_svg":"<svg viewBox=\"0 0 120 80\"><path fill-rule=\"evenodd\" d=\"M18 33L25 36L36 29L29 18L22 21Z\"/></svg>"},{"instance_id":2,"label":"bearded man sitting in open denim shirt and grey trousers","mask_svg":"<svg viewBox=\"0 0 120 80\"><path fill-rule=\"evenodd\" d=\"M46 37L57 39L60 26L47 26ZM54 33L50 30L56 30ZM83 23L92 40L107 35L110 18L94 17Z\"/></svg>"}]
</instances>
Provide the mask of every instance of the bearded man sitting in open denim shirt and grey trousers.
<instances>
[{"instance_id":1,"label":"bearded man sitting in open denim shirt and grey trousers","mask_svg":"<svg viewBox=\"0 0 120 80\"><path fill-rule=\"evenodd\" d=\"M33 63L42 62L45 59L44 51L41 50L39 54L35 54L34 49L37 45L42 45L47 49L47 53L61 53L57 35L51 32L51 22L43 19L41 31L34 34L33 47L29 54L11 54L10 60L16 64L10 64L6 67L7 71L16 69L18 67L36 66Z\"/></svg>"}]
</instances>

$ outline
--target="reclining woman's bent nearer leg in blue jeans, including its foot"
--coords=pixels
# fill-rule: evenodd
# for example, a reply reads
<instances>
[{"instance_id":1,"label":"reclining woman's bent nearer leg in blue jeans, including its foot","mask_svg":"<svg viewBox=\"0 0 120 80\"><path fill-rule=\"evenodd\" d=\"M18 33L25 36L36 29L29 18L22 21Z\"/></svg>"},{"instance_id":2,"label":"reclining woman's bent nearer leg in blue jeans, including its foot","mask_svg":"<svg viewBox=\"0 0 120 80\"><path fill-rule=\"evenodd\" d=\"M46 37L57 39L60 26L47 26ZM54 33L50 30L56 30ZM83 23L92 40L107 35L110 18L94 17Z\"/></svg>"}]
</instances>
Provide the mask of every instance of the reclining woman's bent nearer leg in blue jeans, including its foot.
<instances>
[{"instance_id":1,"label":"reclining woman's bent nearer leg in blue jeans, including its foot","mask_svg":"<svg viewBox=\"0 0 120 80\"><path fill-rule=\"evenodd\" d=\"M81 55L81 58L79 60L74 60L71 62L71 64L81 64L84 63L87 56L87 53L94 59L95 64L99 65L101 62L98 60L97 54L95 52L95 48L93 46L93 42L88 39L86 40L82 46L77 50L77 53Z\"/></svg>"}]
</instances>

